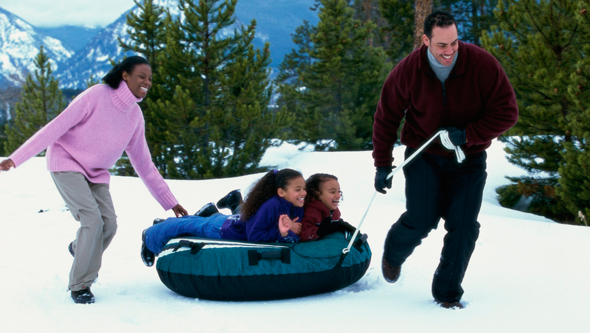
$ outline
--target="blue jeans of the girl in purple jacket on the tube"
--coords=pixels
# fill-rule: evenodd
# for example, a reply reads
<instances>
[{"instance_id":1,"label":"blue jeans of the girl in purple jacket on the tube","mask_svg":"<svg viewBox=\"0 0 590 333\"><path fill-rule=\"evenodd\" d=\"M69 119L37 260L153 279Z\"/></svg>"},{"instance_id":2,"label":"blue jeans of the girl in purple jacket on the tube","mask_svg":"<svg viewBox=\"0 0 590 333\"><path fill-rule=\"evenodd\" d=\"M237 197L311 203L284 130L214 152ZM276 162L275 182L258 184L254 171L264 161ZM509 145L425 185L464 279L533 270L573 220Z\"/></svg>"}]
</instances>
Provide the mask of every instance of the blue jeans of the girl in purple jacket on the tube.
<instances>
[{"instance_id":1,"label":"blue jeans of the girl in purple jacket on the tube","mask_svg":"<svg viewBox=\"0 0 590 333\"><path fill-rule=\"evenodd\" d=\"M162 252L168 241L175 237L196 236L220 239L221 226L227 218L228 216L224 214L214 214L209 217L188 215L167 218L166 221L146 230L146 246L151 252L158 254Z\"/></svg>"}]
</instances>

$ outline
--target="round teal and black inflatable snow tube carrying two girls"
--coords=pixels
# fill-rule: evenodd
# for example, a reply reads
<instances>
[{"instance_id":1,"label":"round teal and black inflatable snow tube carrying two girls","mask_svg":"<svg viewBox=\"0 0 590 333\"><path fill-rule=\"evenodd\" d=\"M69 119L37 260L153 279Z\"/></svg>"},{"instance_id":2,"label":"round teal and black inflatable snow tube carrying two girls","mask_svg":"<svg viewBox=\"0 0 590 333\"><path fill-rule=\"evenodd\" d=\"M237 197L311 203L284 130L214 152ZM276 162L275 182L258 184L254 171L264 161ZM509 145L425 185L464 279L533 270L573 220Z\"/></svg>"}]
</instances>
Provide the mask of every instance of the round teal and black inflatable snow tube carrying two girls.
<instances>
[{"instance_id":1,"label":"round teal and black inflatable snow tube carrying two girls","mask_svg":"<svg viewBox=\"0 0 590 333\"><path fill-rule=\"evenodd\" d=\"M346 255L343 233L303 243L179 237L158 256L160 280L180 295L217 301L264 301L332 292L357 282L371 249L357 239Z\"/></svg>"}]
</instances>

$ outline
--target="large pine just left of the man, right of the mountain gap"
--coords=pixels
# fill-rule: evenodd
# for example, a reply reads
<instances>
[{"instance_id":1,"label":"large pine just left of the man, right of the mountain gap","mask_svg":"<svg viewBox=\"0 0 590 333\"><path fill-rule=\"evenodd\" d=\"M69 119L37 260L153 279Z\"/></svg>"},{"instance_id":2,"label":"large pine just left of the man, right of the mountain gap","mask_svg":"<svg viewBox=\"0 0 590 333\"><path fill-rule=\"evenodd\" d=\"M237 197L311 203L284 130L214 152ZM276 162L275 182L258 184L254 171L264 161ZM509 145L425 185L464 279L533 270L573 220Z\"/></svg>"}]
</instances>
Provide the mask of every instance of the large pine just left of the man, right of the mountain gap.
<instances>
[{"instance_id":1,"label":"large pine just left of the man, right of the mountain gap","mask_svg":"<svg viewBox=\"0 0 590 333\"><path fill-rule=\"evenodd\" d=\"M369 149L372 115L389 69L386 55L368 45L375 24L354 19L346 1L320 4L317 27L300 30L313 31L309 48L299 44L307 52L300 56L311 59L309 66L298 68L297 77L278 82L278 91L284 102L296 101L284 106L297 116L297 139L318 150Z\"/></svg>"}]
</instances>

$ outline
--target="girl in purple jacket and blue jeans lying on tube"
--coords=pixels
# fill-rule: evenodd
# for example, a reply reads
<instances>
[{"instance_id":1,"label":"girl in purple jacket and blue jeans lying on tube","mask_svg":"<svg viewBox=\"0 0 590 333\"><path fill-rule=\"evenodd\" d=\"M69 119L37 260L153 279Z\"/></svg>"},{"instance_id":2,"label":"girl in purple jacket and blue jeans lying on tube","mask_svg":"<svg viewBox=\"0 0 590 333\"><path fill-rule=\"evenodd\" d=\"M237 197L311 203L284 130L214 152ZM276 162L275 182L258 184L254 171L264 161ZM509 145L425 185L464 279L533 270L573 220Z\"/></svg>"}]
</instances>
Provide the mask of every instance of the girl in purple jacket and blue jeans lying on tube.
<instances>
[{"instance_id":1,"label":"girl in purple jacket and blue jeans lying on tube","mask_svg":"<svg viewBox=\"0 0 590 333\"><path fill-rule=\"evenodd\" d=\"M172 217L143 230L143 263L152 266L156 253L179 236L296 243L301 232L301 223L297 221L303 218L305 196L305 180L299 171L269 171L250 190L241 214Z\"/></svg>"}]
</instances>

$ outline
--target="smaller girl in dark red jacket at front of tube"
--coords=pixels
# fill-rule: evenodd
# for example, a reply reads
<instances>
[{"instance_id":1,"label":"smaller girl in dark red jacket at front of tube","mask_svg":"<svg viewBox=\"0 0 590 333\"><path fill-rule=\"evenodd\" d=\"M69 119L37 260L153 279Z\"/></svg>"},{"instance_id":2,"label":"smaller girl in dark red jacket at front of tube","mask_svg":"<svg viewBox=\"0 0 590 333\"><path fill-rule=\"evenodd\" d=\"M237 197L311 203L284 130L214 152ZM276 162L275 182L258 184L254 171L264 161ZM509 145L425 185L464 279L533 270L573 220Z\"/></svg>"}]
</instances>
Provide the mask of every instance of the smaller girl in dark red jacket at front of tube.
<instances>
[{"instance_id":1,"label":"smaller girl in dark red jacket at front of tube","mask_svg":"<svg viewBox=\"0 0 590 333\"><path fill-rule=\"evenodd\" d=\"M307 196L303 205L300 241L322 238L336 231L355 231L355 227L340 218L338 204L342 200L342 191L336 176L314 174L307 178L305 185Z\"/></svg>"}]
</instances>

